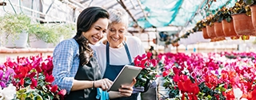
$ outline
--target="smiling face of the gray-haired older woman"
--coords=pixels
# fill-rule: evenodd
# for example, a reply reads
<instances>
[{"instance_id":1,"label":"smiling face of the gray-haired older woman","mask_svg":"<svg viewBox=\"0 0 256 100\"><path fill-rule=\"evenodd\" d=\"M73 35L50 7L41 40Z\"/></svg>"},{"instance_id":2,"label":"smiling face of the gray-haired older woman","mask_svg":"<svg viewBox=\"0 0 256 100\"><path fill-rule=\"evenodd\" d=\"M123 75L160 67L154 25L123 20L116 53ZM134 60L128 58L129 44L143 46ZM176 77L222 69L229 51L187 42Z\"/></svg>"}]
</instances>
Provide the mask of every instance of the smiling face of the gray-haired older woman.
<instances>
[{"instance_id":1,"label":"smiling face of the gray-haired older woman","mask_svg":"<svg viewBox=\"0 0 256 100\"><path fill-rule=\"evenodd\" d=\"M122 47L122 41L125 40L126 34L126 24L119 22L119 23L112 23L106 34L107 41L110 43L110 47L112 48L119 48Z\"/></svg>"}]
</instances>

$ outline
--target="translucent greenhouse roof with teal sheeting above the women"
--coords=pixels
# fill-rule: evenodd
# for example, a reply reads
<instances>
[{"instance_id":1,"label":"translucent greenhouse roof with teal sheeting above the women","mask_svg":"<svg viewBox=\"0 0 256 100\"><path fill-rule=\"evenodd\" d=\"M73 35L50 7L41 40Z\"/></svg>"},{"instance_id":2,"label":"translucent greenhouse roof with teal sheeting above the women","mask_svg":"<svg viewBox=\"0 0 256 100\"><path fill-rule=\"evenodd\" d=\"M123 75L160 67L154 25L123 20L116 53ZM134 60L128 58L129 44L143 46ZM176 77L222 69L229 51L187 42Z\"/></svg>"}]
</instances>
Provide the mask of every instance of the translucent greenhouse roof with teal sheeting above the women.
<instances>
[{"instance_id":1,"label":"translucent greenhouse roof with teal sheeting above the women","mask_svg":"<svg viewBox=\"0 0 256 100\"><path fill-rule=\"evenodd\" d=\"M237 0L69 0L80 6L124 8L130 14L130 26L149 27L195 25L222 6L234 6ZM62 1L63 2L63 1ZM210 6L210 7L209 7Z\"/></svg>"}]
</instances>

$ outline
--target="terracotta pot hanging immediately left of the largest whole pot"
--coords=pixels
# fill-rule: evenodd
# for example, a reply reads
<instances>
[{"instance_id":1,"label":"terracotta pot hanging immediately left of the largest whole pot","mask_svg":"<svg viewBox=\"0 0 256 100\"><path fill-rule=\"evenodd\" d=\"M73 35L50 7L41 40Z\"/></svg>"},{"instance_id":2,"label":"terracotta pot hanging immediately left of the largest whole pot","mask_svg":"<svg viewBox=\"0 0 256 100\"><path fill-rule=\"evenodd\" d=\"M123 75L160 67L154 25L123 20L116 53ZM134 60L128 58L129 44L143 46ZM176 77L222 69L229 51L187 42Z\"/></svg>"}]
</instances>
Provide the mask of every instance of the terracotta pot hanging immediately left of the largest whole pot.
<instances>
[{"instance_id":1,"label":"terracotta pot hanging immediately left of the largest whole pot","mask_svg":"<svg viewBox=\"0 0 256 100\"><path fill-rule=\"evenodd\" d=\"M234 31L234 22L233 19L231 22L226 22L226 20L222 20L222 30L226 37L238 36Z\"/></svg>"}]
</instances>

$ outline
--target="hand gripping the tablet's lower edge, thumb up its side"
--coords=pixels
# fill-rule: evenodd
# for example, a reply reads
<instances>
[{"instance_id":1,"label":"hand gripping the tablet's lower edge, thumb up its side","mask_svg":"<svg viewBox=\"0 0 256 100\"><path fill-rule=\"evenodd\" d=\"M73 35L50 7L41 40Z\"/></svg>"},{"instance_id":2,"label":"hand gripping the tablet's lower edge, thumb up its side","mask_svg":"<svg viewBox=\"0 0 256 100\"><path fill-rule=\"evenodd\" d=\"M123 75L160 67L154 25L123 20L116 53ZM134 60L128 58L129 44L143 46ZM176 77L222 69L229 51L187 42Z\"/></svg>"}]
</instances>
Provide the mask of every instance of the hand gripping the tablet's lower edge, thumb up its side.
<instances>
[{"instance_id":1,"label":"hand gripping the tablet's lower edge, thumb up its side","mask_svg":"<svg viewBox=\"0 0 256 100\"><path fill-rule=\"evenodd\" d=\"M121 88L119 88L119 93L121 97L130 97L130 95L134 91L134 84L136 83L136 79L133 79L133 82L130 85L122 85Z\"/></svg>"}]
</instances>

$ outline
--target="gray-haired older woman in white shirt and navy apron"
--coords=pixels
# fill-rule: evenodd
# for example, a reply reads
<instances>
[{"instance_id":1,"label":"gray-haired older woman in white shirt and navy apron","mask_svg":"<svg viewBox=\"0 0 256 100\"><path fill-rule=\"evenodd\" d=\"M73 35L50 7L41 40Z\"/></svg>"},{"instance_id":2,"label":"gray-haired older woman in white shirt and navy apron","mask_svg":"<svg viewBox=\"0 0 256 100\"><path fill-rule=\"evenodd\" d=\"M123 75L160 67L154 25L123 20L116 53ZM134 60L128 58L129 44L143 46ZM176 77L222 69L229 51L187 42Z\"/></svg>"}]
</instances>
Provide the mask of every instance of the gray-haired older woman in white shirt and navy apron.
<instances>
[{"instance_id":1,"label":"gray-haired older woman in white shirt and navy apron","mask_svg":"<svg viewBox=\"0 0 256 100\"><path fill-rule=\"evenodd\" d=\"M98 42L92 48L97 53L102 78L109 78L114 81L122 67L133 63L138 54L145 54L145 49L139 38L126 36L128 15L125 10L112 9L109 10L109 14L110 25L106 30L106 40ZM137 97L138 93L134 93L129 98L115 100L137 100Z\"/></svg>"}]
</instances>

